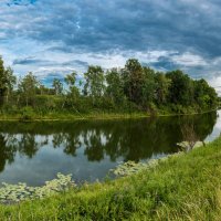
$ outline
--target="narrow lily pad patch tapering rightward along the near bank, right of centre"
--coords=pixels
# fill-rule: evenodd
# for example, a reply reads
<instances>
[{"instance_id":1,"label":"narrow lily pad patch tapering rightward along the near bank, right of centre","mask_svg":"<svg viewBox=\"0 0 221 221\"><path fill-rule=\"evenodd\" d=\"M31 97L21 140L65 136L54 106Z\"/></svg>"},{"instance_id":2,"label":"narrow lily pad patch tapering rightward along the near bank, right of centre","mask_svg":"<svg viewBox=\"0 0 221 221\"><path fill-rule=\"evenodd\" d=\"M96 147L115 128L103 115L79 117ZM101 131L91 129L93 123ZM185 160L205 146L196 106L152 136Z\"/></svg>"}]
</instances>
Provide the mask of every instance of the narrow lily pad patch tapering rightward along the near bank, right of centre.
<instances>
[{"instance_id":1,"label":"narrow lily pad patch tapering rightward along the near bank, right of centre","mask_svg":"<svg viewBox=\"0 0 221 221\"><path fill-rule=\"evenodd\" d=\"M183 152L177 152L173 155L168 155L167 157L162 157L160 159L151 159L147 162L134 162L134 161L127 161L124 164L119 164L116 168L112 169L110 172L116 175L117 177L125 177L130 176L133 173L137 173L141 170L151 169L155 168L159 162L167 160L169 157L176 157Z\"/></svg>"}]
</instances>

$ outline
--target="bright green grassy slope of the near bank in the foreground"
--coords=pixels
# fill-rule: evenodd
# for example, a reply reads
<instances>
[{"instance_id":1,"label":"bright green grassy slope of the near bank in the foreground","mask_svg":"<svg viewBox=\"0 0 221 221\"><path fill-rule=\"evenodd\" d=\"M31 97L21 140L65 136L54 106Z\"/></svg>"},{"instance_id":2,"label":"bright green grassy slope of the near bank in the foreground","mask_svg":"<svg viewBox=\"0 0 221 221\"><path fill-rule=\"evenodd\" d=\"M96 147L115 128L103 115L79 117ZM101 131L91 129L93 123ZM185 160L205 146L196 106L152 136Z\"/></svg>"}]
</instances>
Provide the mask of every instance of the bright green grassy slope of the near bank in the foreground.
<instances>
[{"instance_id":1,"label":"bright green grassy slope of the near bank in the foreground","mask_svg":"<svg viewBox=\"0 0 221 221\"><path fill-rule=\"evenodd\" d=\"M1 206L0 220L220 220L221 138L151 170L44 200Z\"/></svg>"}]
</instances>

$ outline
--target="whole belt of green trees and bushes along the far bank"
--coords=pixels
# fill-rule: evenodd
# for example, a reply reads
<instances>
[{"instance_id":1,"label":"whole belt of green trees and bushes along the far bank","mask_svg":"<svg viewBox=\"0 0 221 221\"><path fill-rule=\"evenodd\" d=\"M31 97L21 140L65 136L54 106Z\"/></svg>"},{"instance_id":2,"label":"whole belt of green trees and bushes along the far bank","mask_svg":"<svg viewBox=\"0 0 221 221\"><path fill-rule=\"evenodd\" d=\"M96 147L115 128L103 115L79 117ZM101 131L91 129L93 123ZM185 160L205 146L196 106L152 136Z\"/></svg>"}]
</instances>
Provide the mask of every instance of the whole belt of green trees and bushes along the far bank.
<instances>
[{"instance_id":1,"label":"whole belt of green trees and bushes along the far bank","mask_svg":"<svg viewBox=\"0 0 221 221\"><path fill-rule=\"evenodd\" d=\"M213 109L218 95L204 80L192 80L182 71L158 72L130 59L123 69L104 71L88 66L54 78L46 87L33 73L17 78L0 57L0 106L2 113L193 113Z\"/></svg>"}]
</instances>

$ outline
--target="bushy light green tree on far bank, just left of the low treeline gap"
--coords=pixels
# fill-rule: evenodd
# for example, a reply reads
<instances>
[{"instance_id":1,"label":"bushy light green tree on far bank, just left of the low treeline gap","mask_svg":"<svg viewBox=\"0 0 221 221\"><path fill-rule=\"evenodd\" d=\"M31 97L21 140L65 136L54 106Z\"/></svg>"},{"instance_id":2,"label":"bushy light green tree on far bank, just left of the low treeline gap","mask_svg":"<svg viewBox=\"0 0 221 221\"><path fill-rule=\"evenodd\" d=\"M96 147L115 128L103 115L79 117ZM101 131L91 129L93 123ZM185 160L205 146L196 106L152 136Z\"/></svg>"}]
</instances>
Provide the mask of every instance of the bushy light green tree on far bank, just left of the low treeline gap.
<instances>
[{"instance_id":1,"label":"bushy light green tree on far bank, just left of the low treeline gap","mask_svg":"<svg viewBox=\"0 0 221 221\"><path fill-rule=\"evenodd\" d=\"M28 75L21 80L19 84L19 92L25 99L25 105L28 106L30 103L33 103L36 95L36 87L39 86L39 81L36 76L29 72Z\"/></svg>"}]
</instances>

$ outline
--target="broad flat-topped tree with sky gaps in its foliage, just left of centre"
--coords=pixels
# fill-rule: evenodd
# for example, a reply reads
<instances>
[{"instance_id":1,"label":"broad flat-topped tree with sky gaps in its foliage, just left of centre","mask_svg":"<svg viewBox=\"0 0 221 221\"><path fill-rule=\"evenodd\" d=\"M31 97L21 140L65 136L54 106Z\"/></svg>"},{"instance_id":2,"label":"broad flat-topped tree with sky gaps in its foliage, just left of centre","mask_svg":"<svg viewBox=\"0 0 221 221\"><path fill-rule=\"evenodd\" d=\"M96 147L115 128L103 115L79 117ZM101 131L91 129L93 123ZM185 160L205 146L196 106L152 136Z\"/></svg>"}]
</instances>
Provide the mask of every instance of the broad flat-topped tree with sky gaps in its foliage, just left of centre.
<instances>
[{"instance_id":1,"label":"broad flat-topped tree with sky gaps in its foliage, just left of centre","mask_svg":"<svg viewBox=\"0 0 221 221\"><path fill-rule=\"evenodd\" d=\"M92 96L94 103L95 98L99 98L104 94L104 71L101 66L88 66L84 77L84 95Z\"/></svg>"}]
</instances>

